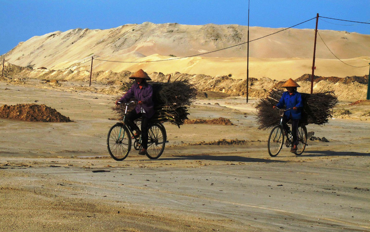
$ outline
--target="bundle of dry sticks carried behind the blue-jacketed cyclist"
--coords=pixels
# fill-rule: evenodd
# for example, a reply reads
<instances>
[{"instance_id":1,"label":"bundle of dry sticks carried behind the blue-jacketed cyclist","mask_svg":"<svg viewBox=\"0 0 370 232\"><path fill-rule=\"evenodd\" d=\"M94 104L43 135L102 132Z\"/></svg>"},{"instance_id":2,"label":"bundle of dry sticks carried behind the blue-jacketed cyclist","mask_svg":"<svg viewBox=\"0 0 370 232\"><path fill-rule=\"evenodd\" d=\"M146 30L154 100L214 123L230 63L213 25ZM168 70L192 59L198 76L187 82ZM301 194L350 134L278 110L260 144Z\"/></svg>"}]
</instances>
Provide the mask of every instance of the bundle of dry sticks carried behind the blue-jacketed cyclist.
<instances>
[{"instance_id":1,"label":"bundle of dry sticks carried behind the blue-jacketed cyclist","mask_svg":"<svg viewBox=\"0 0 370 232\"><path fill-rule=\"evenodd\" d=\"M279 110L274 110L281 96L282 90L272 90L266 98L261 99L257 106L258 129L267 129L279 124L281 115ZM338 103L333 91L326 91L314 94L301 93L303 101L301 122L305 125L322 125L332 117L332 109Z\"/></svg>"}]
</instances>

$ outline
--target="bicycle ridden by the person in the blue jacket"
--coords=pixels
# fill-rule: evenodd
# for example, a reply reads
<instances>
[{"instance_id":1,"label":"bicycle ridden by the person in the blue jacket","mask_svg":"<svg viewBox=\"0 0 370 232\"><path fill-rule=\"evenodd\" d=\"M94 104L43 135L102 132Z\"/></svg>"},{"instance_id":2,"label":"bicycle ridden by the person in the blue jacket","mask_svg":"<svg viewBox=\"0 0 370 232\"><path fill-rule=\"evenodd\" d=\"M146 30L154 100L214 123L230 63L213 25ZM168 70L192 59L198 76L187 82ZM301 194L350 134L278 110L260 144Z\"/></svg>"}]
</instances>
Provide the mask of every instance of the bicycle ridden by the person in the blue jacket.
<instances>
[{"instance_id":1,"label":"bicycle ridden by the person in the blue jacket","mask_svg":"<svg viewBox=\"0 0 370 232\"><path fill-rule=\"evenodd\" d=\"M279 108L277 108L279 109ZM269 150L269 154L271 157L276 157L278 153L280 152L281 148L283 147L284 144L284 135L286 136L285 140L285 146L290 147L292 146L292 139L293 136L291 134L290 129L288 131L284 130L283 127L283 115L284 112L289 109L279 109L280 114L281 114L281 119L279 125L275 126L270 133L269 140L267 143L267 147ZM284 133L285 132L285 133ZM304 124L300 123L298 126L298 135L297 135L297 140L298 140L298 145L297 145L297 150L294 152L295 155L300 156L303 151L306 148L307 145L307 128Z\"/></svg>"}]
</instances>

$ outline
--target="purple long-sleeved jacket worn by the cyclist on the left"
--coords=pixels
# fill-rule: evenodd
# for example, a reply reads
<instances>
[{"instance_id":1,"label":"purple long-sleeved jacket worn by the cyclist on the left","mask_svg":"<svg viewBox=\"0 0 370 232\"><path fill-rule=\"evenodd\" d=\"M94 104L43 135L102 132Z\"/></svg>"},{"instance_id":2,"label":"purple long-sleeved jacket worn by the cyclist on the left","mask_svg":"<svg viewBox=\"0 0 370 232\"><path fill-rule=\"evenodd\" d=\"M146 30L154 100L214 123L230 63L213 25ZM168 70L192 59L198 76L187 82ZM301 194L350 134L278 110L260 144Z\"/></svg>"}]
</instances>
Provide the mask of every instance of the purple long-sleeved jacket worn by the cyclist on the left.
<instances>
[{"instance_id":1,"label":"purple long-sleeved jacket worn by the cyclist on the left","mask_svg":"<svg viewBox=\"0 0 370 232\"><path fill-rule=\"evenodd\" d=\"M146 117L152 118L154 114L153 87L145 83L140 89L139 85L135 82L131 86L131 89L119 101L129 102L132 97L135 97L136 101L142 101L142 105L136 105L136 113L139 113L142 107L146 112Z\"/></svg>"}]
</instances>

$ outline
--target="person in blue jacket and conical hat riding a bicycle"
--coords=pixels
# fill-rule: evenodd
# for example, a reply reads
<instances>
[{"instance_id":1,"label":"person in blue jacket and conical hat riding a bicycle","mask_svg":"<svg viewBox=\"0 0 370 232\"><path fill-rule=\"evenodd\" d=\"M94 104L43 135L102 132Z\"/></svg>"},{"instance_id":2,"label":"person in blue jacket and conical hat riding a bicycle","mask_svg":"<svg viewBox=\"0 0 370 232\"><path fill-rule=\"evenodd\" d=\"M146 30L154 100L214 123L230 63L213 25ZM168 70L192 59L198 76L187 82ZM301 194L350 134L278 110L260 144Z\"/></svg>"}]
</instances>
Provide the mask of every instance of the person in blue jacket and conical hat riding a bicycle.
<instances>
[{"instance_id":1,"label":"person in blue jacket and conical hat riding a bicycle","mask_svg":"<svg viewBox=\"0 0 370 232\"><path fill-rule=\"evenodd\" d=\"M279 103L274 108L282 108L284 105L286 106L287 111L284 112L283 115L283 127L285 131L289 130L289 127L286 125L286 123L291 120L291 133L293 135L293 146L290 150L290 152L297 151L297 136L298 136L298 124L301 120L301 114L302 114L302 96L299 92L297 92L297 87L301 87L296 82L294 82L292 79L289 79L286 81L281 87L286 88L286 92L283 93L283 96L281 97Z\"/></svg>"}]
</instances>

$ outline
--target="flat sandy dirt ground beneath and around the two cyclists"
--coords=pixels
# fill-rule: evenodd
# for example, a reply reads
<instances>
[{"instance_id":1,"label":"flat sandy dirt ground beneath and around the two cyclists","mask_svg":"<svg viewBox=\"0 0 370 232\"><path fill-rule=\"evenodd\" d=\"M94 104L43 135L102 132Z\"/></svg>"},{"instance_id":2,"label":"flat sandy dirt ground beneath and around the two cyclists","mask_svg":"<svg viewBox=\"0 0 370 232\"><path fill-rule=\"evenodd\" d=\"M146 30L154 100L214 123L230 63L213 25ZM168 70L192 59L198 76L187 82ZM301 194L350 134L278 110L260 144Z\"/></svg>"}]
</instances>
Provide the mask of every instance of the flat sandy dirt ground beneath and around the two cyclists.
<instances>
[{"instance_id":1,"label":"flat sandy dirt ground beneath and around the two cyclists","mask_svg":"<svg viewBox=\"0 0 370 232\"><path fill-rule=\"evenodd\" d=\"M117 96L5 82L0 92L0 105L36 102L72 121L0 119L2 231L370 231L366 104L338 106L357 119L340 113L308 125L329 142L309 141L299 157L284 147L272 158L256 100L200 99L191 120L233 125L166 123L158 160L132 150L117 162L106 149ZM209 145L223 140L242 142Z\"/></svg>"}]
</instances>

